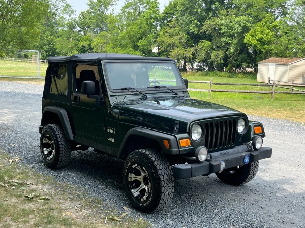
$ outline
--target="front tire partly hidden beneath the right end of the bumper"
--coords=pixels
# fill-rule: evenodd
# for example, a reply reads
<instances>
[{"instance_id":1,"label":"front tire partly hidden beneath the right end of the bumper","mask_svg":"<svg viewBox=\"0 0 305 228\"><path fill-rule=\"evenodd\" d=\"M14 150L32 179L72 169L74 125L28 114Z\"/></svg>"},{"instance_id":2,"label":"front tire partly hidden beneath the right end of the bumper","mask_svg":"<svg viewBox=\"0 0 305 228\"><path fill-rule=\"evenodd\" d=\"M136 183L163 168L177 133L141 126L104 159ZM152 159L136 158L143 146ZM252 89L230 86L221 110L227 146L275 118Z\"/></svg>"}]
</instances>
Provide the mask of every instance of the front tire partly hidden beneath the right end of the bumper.
<instances>
[{"instance_id":1,"label":"front tire partly hidden beneath the right end of the bumper","mask_svg":"<svg viewBox=\"0 0 305 228\"><path fill-rule=\"evenodd\" d=\"M258 171L258 161L245 164L239 168L234 167L216 173L216 176L224 183L237 186L251 181Z\"/></svg>"}]
</instances>

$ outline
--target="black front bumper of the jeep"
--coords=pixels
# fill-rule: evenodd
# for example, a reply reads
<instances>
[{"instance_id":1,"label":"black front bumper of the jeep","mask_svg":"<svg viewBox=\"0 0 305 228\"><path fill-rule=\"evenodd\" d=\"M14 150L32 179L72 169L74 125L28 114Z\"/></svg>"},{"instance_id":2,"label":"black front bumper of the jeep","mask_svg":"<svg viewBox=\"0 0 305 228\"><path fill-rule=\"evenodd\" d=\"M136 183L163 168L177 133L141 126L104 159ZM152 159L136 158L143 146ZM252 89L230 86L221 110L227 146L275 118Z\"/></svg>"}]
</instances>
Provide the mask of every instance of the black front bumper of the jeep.
<instances>
[{"instance_id":1,"label":"black front bumper of the jeep","mask_svg":"<svg viewBox=\"0 0 305 228\"><path fill-rule=\"evenodd\" d=\"M233 149L211 153L209 161L198 162L195 164L178 164L173 168L175 179L183 179L196 177L199 175L208 175L217 173L221 170L221 162L224 162L225 169L245 165L243 158L250 156L250 163L270 158L272 149L270 147L262 147L259 150L248 151L247 146L237 146Z\"/></svg>"}]
</instances>

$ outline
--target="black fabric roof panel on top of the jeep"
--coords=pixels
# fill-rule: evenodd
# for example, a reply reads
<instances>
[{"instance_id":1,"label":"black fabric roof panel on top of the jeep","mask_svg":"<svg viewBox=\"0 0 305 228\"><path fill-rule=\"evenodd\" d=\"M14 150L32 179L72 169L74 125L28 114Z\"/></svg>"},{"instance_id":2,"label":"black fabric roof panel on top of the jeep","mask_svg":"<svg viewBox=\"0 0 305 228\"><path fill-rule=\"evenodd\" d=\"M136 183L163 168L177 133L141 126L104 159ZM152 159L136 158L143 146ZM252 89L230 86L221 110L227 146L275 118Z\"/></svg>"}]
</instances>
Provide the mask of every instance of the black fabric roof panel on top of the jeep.
<instances>
[{"instance_id":1,"label":"black fabric roof panel on top of the jeep","mask_svg":"<svg viewBox=\"0 0 305 228\"><path fill-rule=\"evenodd\" d=\"M157 61L174 61L171 58L143 57L139 55L112 54L112 53L89 53L75 54L65 57L50 57L48 62L67 62L67 61L89 61L98 62L100 60L157 60Z\"/></svg>"}]
</instances>

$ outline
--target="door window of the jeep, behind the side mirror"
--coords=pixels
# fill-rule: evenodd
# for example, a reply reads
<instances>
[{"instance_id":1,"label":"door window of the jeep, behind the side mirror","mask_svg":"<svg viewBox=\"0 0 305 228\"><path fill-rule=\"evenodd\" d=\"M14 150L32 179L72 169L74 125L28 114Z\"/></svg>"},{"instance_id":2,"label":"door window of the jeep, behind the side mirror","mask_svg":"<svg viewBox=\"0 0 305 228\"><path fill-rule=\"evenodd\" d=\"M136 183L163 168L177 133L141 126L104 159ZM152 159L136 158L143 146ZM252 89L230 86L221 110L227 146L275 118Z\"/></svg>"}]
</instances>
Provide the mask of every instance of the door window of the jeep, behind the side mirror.
<instances>
[{"instance_id":1,"label":"door window of the jeep, behind the side mirror","mask_svg":"<svg viewBox=\"0 0 305 228\"><path fill-rule=\"evenodd\" d=\"M95 83L95 94L100 95L100 78L97 65L78 64L74 74L74 92L81 93L83 81L93 81Z\"/></svg>"}]
</instances>

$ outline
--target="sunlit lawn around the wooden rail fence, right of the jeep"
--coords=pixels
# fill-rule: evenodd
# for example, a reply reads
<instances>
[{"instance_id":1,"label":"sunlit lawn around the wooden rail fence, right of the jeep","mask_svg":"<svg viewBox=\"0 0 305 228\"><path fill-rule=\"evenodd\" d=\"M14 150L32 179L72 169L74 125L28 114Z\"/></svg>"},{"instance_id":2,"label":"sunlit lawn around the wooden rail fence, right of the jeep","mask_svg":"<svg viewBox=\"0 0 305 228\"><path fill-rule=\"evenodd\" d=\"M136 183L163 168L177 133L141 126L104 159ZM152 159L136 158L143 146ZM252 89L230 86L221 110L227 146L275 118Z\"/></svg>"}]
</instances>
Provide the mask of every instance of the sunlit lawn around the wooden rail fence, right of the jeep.
<instances>
[{"instance_id":1,"label":"sunlit lawn around the wooden rail fence, right of the jeep","mask_svg":"<svg viewBox=\"0 0 305 228\"><path fill-rule=\"evenodd\" d=\"M212 82L216 83L263 84L258 83L256 77L251 75L226 78L217 75L187 73L182 76L189 81L210 81L212 79ZM189 88L209 89L209 84L189 83ZM268 90L268 87L254 86L212 85L212 89L271 91L271 88ZM299 89L305 90L304 87L299 87ZM276 88L276 91L290 90ZM303 94L275 94L274 100L271 101L271 94L212 92L211 99L209 99L208 92L189 91L189 93L193 98L225 105L248 115L305 123L305 95Z\"/></svg>"}]
</instances>

